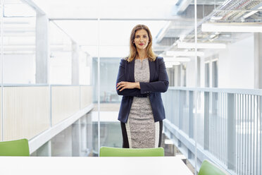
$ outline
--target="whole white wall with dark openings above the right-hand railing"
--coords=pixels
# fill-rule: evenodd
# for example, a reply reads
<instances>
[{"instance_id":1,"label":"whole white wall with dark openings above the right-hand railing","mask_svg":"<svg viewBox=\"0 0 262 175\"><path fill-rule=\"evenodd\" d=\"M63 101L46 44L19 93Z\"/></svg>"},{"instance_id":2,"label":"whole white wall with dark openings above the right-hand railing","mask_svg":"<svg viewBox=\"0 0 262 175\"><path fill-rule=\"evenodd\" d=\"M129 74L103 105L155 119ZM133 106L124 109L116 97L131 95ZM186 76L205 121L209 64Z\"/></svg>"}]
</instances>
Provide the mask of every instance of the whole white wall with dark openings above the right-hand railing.
<instances>
[{"instance_id":1,"label":"whole white wall with dark openings above the right-hand railing","mask_svg":"<svg viewBox=\"0 0 262 175\"><path fill-rule=\"evenodd\" d=\"M227 44L226 49L206 50L205 56L201 57L201 87L204 87L204 61L216 54L218 54L219 88L254 88L254 35L243 35L242 40ZM211 67L209 71L211 77ZM187 87L195 86L194 78L194 58L192 58L187 63ZM210 84L212 85L212 82Z\"/></svg>"}]
</instances>

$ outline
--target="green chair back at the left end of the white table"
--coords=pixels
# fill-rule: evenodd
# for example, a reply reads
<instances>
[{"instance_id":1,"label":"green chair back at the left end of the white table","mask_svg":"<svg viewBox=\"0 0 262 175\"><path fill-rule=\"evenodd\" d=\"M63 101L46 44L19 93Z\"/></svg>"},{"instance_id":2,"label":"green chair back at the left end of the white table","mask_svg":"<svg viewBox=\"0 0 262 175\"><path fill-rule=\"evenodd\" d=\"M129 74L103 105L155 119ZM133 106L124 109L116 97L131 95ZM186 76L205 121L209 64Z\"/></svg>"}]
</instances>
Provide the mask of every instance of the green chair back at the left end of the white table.
<instances>
[{"instance_id":1,"label":"green chair back at the left end of the white table","mask_svg":"<svg viewBox=\"0 0 262 175\"><path fill-rule=\"evenodd\" d=\"M28 140L0 142L0 156L30 156Z\"/></svg>"}]
</instances>

